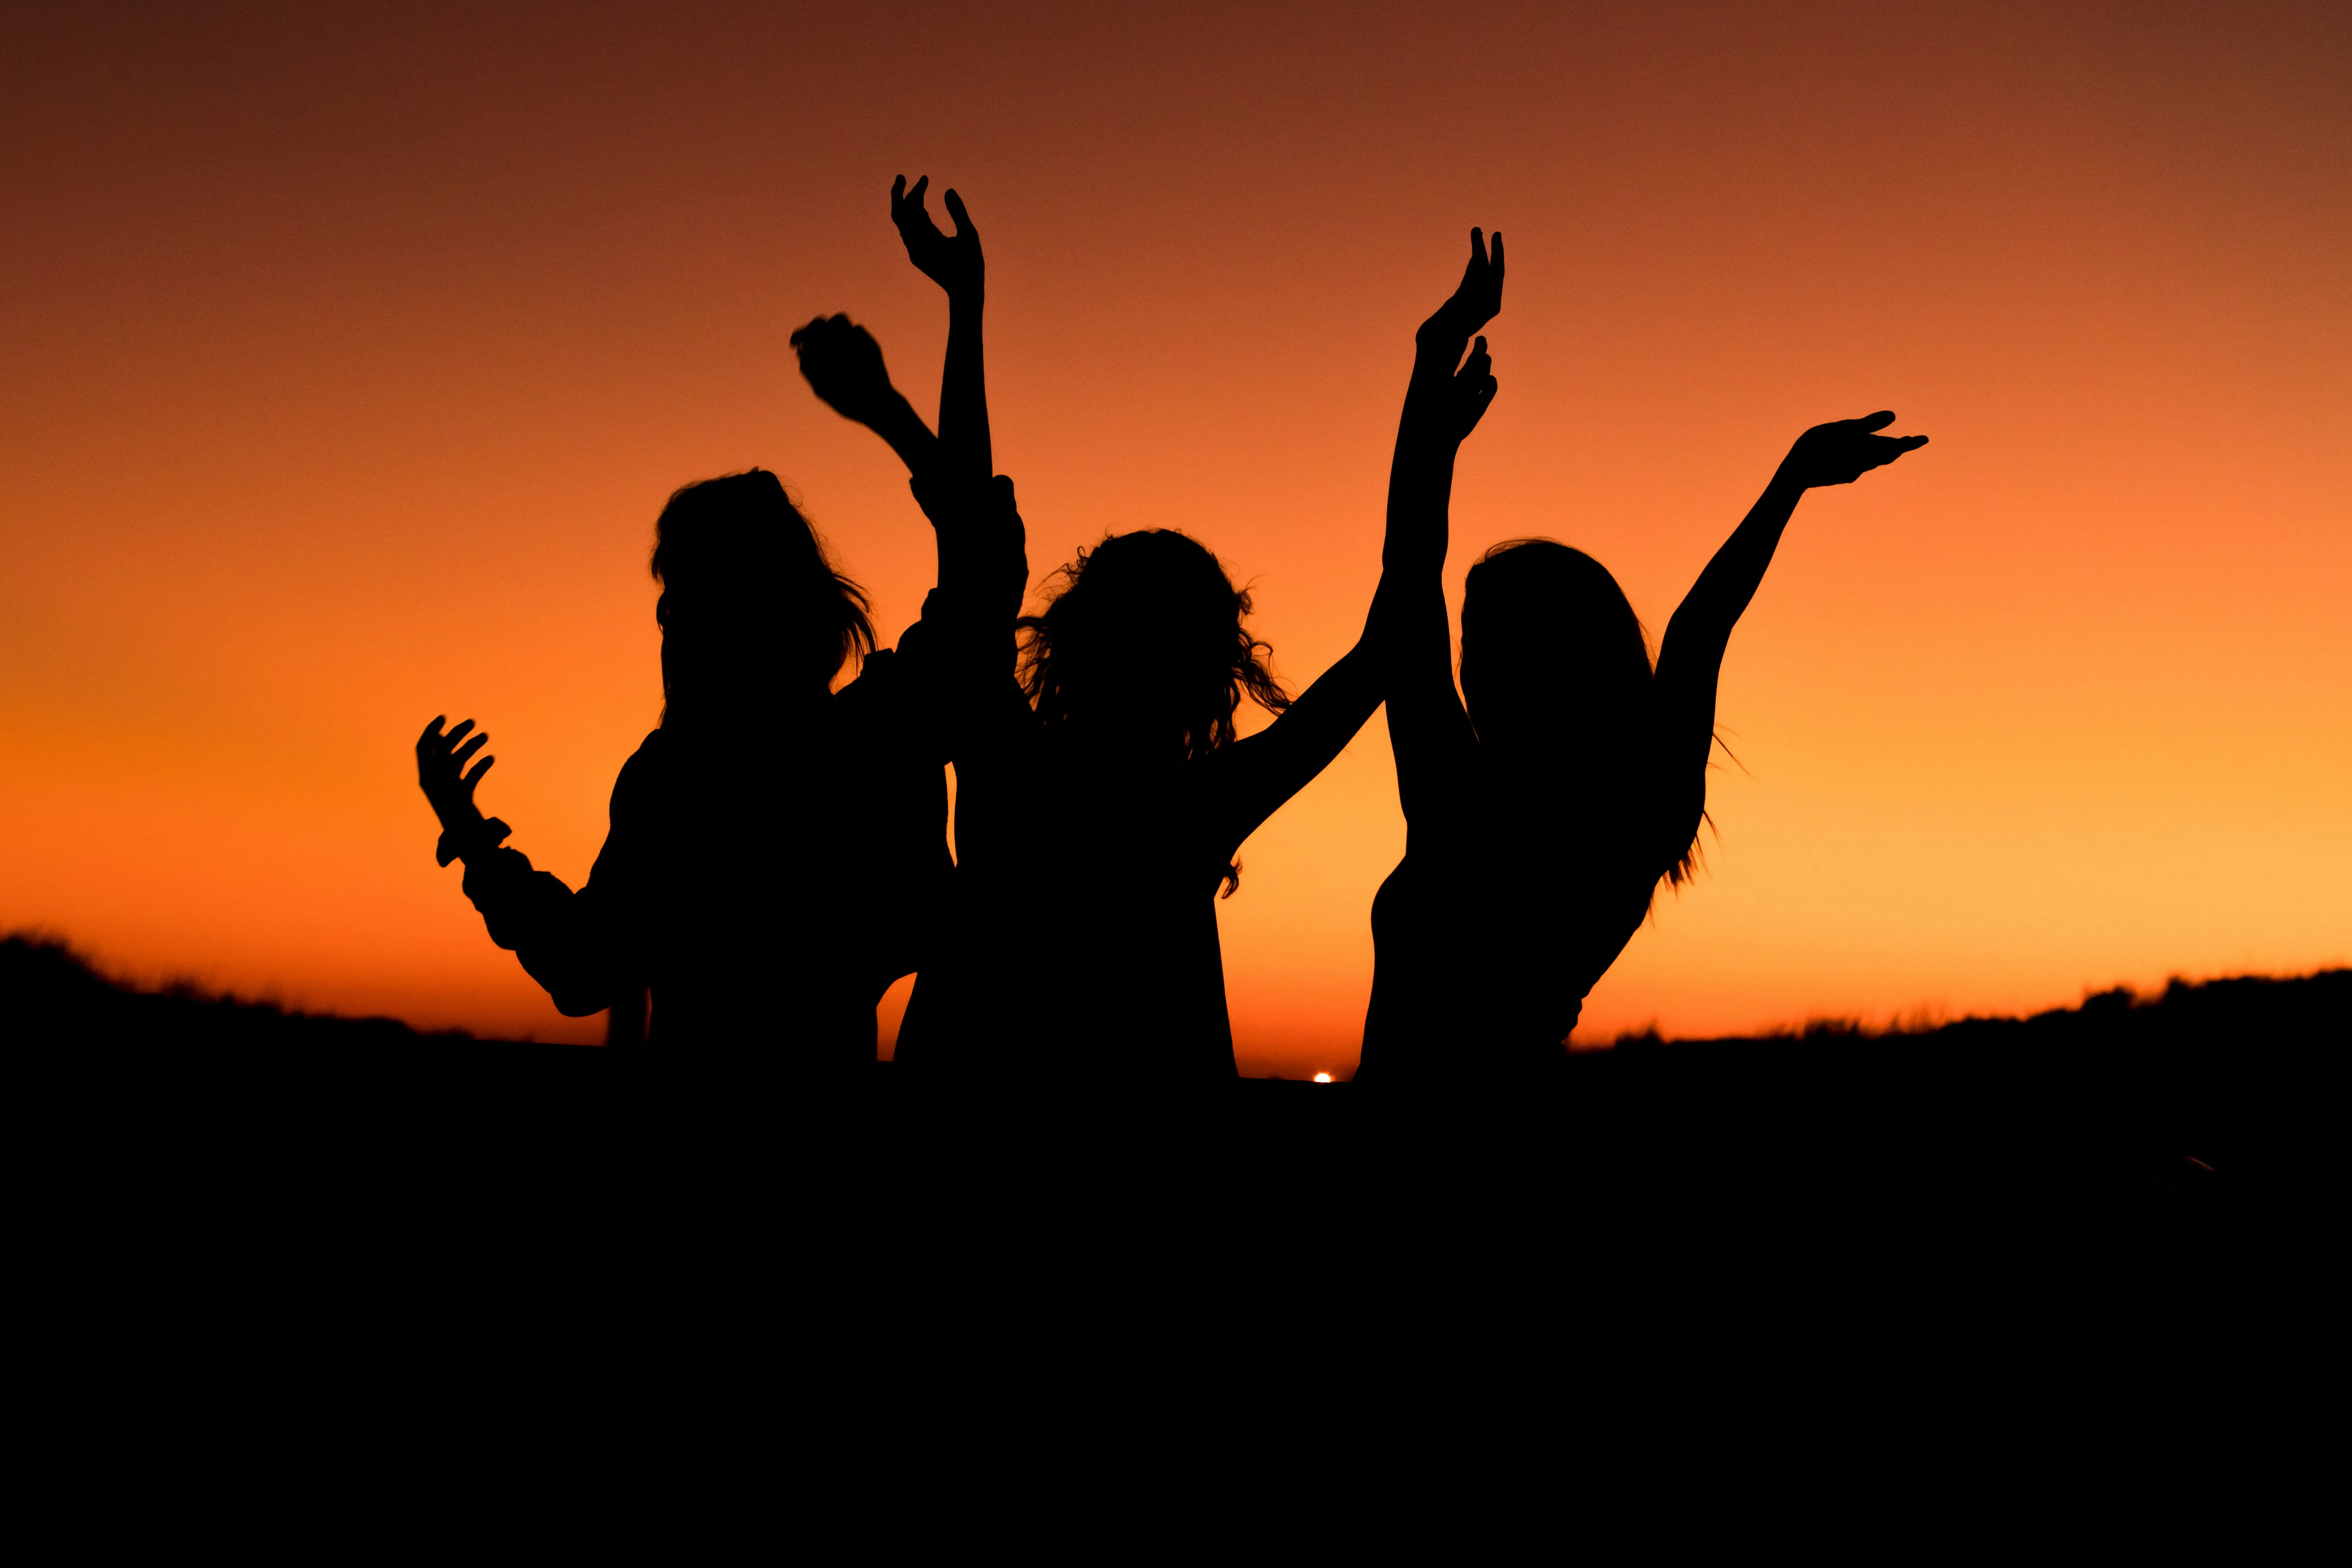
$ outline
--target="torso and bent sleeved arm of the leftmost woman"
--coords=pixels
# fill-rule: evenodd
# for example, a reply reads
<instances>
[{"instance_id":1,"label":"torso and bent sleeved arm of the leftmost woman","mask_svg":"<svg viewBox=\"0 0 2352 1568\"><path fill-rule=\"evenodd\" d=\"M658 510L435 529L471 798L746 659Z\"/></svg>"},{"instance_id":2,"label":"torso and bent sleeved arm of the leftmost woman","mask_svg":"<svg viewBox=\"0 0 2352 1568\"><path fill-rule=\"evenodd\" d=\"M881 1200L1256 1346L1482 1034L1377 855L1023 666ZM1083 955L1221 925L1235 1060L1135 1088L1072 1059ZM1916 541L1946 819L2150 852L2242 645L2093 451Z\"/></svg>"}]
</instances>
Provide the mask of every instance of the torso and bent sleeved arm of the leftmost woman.
<instances>
[{"instance_id":1,"label":"torso and bent sleeved arm of the leftmost woman","mask_svg":"<svg viewBox=\"0 0 2352 1568\"><path fill-rule=\"evenodd\" d=\"M906 663L875 654L757 724L673 715L621 769L579 893L515 851L468 867L492 938L564 1013L652 987L654 1051L868 1072L875 1001L917 966L948 875Z\"/></svg>"}]
</instances>

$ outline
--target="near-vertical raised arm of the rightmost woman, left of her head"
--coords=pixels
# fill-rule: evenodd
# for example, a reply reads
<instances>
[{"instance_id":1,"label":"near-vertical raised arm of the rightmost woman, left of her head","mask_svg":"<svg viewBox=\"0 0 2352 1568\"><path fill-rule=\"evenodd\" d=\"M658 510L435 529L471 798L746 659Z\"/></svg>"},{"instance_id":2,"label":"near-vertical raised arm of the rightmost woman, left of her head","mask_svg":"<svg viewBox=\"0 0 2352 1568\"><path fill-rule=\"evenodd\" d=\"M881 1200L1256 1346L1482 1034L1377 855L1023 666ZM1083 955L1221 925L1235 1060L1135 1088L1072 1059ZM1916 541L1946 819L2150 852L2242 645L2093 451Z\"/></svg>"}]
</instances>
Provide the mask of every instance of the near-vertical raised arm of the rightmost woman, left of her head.
<instances>
[{"instance_id":1,"label":"near-vertical raised arm of the rightmost woman, left of her head","mask_svg":"<svg viewBox=\"0 0 2352 1568\"><path fill-rule=\"evenodd\" d=\"M1454 296L1414 336L1414 378L1397 421L1388 475L1392 632L1388 736L1406 823L1437 823L1470 776L1477 736L1454 689L1454 628L1444 564L1451 543L1454 458L1494 402L1486 339L1472 334L1503 308L1503 235L1491 254L1470 230L1470 263ZM1468 362L1463 350L1470 350ZM1456 369L1456 364L1461 369Z\"/></svg>"}]
</instances>

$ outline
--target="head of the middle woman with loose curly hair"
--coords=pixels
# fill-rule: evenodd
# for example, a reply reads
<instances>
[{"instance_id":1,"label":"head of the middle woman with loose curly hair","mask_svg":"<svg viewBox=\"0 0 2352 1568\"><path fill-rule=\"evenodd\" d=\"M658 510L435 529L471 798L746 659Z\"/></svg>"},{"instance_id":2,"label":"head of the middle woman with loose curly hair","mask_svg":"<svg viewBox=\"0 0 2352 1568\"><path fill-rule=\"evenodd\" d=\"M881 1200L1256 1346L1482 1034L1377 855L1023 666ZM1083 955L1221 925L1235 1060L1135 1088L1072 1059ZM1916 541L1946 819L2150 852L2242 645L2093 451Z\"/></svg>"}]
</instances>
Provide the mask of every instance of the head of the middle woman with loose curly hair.
<instances>
[{"instance_id":1,"label":"head of the middle woman with loose curly hair","mask_svg":"<svg viewBox=\"0 0 2352 1568\"><path fill-rule=\"evenodd\" d=\"M1110 534L1061 569L1021 628L1021 686L1049 729L1143 764L1181 764L1235 738L1249 696L1289 696L1249 635L1249 590L1174 529Z\"/></svg>"}]
</instances>

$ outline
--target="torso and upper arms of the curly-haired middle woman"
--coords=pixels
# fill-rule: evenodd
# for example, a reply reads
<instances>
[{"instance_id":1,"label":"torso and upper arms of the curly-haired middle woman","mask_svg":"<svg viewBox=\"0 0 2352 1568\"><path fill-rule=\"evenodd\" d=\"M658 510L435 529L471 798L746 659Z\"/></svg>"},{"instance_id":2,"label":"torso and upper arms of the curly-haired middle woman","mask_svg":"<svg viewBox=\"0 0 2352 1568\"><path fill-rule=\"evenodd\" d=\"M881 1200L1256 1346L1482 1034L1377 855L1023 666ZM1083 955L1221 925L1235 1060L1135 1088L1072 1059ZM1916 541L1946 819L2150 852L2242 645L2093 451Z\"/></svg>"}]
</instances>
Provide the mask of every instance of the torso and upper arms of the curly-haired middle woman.
<instances>
[{"instance_id":1,"label":"torso and upper arms of the curly-haired middle woman","mask_svg":"<svg viewBox=\"0 0 2352 1568\"><path fill-rule=\"evenodd\" d=\"M915 494L943 541L924 668L955 762L957 867L898 1060L981 1084L1230 1081L1218 884L1371 717L1376 661L1359 644L1263 731L1190 757L1155 701L1098 698L1087 722L1047 724L1014 677L1011 482Z\"/></svg>"}]
</instances>

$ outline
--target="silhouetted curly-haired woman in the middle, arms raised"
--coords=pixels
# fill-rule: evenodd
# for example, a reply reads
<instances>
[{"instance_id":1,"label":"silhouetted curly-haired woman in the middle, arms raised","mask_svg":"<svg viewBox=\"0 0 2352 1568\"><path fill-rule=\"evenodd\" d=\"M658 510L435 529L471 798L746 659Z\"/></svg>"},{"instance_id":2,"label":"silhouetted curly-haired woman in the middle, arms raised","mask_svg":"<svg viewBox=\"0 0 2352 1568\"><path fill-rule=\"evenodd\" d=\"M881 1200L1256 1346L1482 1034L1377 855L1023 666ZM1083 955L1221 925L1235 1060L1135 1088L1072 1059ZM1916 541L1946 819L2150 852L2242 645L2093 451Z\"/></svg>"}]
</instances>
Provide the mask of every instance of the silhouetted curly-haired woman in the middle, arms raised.
<instances>
[{"instance_id":1,"label":"silhouetted curly-haired woman in the middle, arms raised","mask_svg":"<svg viewBox=\"0 0 2352 1568\"><path fill-rule=\"evenodd\" d=\"M924 266L920 186L908 202L894 193L894 209ZM976 268L978 242L953 197L950 212ZM955 322L950 284L950 360ZM1472 423L1399 435L1411 503L1442 496ZM1232 1079L1214 898L1240 882L1240 844L1378 705L1369 628L1287 698L1247 628L1249 595L1167 529L1103 538L1061 569L1044 614L1016 623L1002 599L1021 548L1011 484L915 468L915 491L941 527L941 595L976 590L953 651L948 639L938 649L957 773L953 936L917 978L898 1058L993 1079ZM1395 517L1395 496L1390 505ZM953 567L950 534L985 548ZM1277 715L1247 741L1242 701Z\"/></svg>"}]
</instances>

